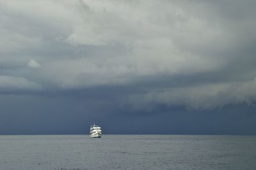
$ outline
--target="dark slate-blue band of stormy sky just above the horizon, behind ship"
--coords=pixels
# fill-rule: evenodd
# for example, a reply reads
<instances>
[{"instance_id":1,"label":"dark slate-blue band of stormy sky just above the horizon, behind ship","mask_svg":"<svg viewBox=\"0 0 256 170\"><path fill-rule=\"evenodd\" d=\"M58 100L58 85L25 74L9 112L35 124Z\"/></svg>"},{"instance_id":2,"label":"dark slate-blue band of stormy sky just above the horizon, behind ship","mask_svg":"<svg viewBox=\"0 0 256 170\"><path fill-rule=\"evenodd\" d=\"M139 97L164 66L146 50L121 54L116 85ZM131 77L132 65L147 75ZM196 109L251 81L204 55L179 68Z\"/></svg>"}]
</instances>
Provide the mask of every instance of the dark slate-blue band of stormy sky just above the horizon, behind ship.
<instances>
[{"instance_id":1,"label":"dark slate-blue band of stormy sky just above the horizon, behind ship","mask_svg":"<svg viewBox=\"0 0 256 170\"><path fill-rule=\"evenodd\" d=\"M93 121L104 134L255 134L255 106L186 112L159 105L132 111L116 109L108 100L72 97L2 96L0 101L0 134L88 134Z\"/></svg>"}]
</instances>

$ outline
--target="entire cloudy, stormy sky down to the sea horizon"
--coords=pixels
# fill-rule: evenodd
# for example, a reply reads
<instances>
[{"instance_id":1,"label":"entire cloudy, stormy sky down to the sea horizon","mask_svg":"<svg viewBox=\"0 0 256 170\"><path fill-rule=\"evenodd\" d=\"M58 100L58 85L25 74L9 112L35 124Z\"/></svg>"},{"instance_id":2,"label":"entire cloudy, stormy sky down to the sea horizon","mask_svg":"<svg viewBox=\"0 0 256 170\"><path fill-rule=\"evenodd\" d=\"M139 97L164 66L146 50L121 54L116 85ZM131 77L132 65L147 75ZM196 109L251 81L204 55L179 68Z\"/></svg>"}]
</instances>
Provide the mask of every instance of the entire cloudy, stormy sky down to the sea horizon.
<instances>
[{"instance_id":1,"label":"entire cloudy, stormy sky down to the sea horizon","mask_svg":"<svg viewBox=\"0 0 256 170\"><path fill-rule=\"evenodd\" d=\"M0 134L256 134L256 1L0 1Z\"/></svg>"}]
</instances>

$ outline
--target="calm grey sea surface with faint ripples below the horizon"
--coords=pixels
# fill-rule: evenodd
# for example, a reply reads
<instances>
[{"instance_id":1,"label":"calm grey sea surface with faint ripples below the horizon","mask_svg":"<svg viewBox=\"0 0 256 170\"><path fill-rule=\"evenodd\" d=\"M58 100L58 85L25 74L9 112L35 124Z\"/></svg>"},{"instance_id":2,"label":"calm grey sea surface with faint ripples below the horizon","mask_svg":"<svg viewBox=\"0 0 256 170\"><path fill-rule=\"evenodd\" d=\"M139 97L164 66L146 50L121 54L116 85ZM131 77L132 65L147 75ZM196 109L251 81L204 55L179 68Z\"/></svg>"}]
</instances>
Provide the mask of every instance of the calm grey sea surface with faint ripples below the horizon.
<instances>
[{"instance_id":1,"label":"calm grey sea surface with faint ripples below the horizon","mask_svg":"<svg viewBox=\"0 0 256 170\"><path fill-rule=\"evenodd\" d=\"M0 169L256 169L256 136L0 135Z\"/></svg>"}]
</instances>

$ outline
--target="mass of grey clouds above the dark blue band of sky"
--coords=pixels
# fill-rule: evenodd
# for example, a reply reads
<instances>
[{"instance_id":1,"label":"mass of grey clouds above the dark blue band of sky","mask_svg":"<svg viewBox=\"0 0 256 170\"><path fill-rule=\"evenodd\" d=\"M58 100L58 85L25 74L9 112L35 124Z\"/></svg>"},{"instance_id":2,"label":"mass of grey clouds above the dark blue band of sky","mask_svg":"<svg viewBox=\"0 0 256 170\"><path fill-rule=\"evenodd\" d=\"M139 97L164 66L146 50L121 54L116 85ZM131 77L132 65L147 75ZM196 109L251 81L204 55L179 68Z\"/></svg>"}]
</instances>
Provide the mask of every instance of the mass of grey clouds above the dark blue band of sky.
<instances>
[{"instance_id":1,"label":"mass of grey clouds above the dark blue band of sky","mask_svg":"<svg viewBox=\"0 0 256 170\"><path fill-rule=\"evenodd\" d=\"M111 114L253 107L255 6L1 1L1 97L73 98Z\"/></svg>"}]
</instances>

